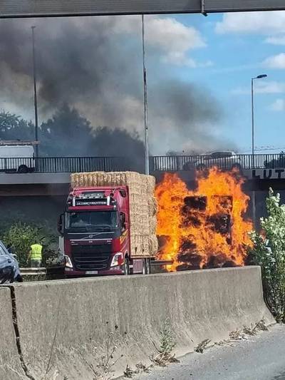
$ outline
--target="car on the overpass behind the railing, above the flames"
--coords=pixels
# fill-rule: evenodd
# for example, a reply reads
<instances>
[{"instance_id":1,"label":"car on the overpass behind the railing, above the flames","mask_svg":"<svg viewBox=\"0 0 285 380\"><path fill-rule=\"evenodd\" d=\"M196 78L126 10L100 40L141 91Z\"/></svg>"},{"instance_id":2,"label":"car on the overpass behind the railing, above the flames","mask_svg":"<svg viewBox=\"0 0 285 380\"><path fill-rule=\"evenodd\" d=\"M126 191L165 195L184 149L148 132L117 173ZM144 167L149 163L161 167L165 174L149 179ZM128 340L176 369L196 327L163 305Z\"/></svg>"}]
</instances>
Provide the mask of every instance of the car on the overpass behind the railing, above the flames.
<instances>
[{"instance_id":1,"label":"car on the overpass behind the railing, above the flames","mask_svg":"<svg viewBox=\"0 0 285 380\"><path fill-rule=\"evenodd\" d=\"M204 155L199 155L195 159L186 163L184 169L197 169L204 170L206 168L212 168L217 166L220 169L233 169L242 168L242 162L237 155L229 150L217 151L212 153L205 153Z\"/></svg>"}]
</instances>

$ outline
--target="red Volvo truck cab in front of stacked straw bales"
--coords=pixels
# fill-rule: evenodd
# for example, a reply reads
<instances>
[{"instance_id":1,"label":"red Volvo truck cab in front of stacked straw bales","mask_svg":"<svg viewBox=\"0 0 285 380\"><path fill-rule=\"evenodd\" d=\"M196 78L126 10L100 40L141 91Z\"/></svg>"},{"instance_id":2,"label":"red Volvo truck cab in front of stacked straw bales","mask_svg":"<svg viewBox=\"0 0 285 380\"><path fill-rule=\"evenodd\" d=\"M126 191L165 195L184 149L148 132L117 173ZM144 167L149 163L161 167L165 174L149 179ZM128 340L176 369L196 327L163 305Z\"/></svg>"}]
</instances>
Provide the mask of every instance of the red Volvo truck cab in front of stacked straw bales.
<instances>
[{"instance_id":1,"label":"red Volvo truck cab in front of stacked straw bales","mask_svg":"<svg viewBox=\"0 0 285 380\"><path fill-rule=\"evenodd\" d=\"M132 260L128 187L74 188L58 222L66 276L150 273Z\"/></svg>"}]
</instances>

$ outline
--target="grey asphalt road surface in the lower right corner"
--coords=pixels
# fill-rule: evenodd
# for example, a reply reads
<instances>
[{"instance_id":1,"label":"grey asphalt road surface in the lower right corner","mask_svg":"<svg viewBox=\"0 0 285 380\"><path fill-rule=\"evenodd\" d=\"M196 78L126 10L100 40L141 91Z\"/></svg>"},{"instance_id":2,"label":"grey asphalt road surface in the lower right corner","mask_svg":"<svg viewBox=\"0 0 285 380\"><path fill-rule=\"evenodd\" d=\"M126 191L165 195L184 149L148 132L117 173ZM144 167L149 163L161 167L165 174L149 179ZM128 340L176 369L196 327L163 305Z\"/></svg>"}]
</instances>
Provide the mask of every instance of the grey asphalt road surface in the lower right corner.
<instances>
[{"instance_id":1,"label":"grey asphalt road surface in the lower right corner","mask_svg":"<svg viewBox=\"0 0 285 380\"><path fill-rule=\"evenodd\" d=\"M239 342L188 354L136 380L285 380L285 324Z\"/></svg>"}]
</instances>

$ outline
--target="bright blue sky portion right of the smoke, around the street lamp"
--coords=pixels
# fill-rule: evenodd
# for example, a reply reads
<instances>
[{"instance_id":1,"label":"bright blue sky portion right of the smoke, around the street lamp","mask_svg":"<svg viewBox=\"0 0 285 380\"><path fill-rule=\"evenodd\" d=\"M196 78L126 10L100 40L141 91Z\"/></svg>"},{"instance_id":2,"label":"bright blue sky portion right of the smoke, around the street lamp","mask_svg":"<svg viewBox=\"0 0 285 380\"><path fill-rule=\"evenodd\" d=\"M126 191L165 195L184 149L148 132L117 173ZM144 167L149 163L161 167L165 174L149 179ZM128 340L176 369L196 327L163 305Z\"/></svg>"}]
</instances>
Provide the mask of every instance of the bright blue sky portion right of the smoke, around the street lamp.
<instances>
[{"instance_id":1,"label":"bright blue sky portion right of the smoke, around the street lamp","mask_svg":"<svg viewBox=\"0 0 285 380\"><path fill-rule=\"evenodd\" d=\"M207 86L222 103L217 133L228 135L242 151L251 149L251 78L266 73L267 78L254 81L256 146L284 147L285 12L175 19L195 27L204 39L204 47L187 51L196 67L181 67L180 76ZM203 62L210 64L202 67Z\"/></svg>"}]
</instances>

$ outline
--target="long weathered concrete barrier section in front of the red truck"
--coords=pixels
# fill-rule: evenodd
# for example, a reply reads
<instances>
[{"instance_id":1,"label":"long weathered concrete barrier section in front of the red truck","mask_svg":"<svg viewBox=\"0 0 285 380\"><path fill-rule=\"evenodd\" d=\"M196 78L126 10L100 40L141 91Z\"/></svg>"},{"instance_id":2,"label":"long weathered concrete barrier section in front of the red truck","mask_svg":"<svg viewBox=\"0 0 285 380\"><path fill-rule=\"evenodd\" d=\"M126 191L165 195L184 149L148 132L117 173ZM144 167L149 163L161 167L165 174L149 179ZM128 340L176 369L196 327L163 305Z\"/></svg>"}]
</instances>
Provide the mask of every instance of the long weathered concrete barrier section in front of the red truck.
<instances>
[{"instance_id":1,"label":"long weathered concrete barrier section in front of the red truck","mask_svg":"<svg viewBox=\"0 0 285 380\"><path fill-rule=\"evenodd\" d=\"M14 285L24 361L35 379L93 379L147 363L169 319L178 356L204 339L217 342L243 325L274 322L263 300L259 267ZM120 357L120 354L123 354Z\"/></svg>"}]
</instances>

